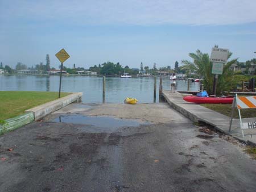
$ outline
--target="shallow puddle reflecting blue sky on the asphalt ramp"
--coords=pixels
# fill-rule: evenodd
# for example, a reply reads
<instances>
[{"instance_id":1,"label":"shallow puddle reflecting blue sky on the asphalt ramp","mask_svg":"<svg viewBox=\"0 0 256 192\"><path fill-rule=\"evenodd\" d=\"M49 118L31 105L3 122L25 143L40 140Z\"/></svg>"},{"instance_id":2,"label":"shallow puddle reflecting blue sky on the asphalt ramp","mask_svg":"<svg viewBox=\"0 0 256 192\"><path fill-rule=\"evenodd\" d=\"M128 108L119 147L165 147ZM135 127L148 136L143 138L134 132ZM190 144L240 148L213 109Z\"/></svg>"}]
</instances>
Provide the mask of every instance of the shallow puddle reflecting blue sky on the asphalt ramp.
<instances>
[{"instance_id":1,"label":"shallow puddle reflecting blue sky on the asphalt ramp","mask_svg":"<svg viewBox=\"0 0 256 192\"><path fill-rule=\"evenodd\" d=\"M84 116L84 115L60 115L53 119L53 122L88 124L100 128L119 128L119 127L138 127L141 124L150 124L148 122L138 122L136 120L117 119L106 116Z\"/></svg>"}]
</instances>

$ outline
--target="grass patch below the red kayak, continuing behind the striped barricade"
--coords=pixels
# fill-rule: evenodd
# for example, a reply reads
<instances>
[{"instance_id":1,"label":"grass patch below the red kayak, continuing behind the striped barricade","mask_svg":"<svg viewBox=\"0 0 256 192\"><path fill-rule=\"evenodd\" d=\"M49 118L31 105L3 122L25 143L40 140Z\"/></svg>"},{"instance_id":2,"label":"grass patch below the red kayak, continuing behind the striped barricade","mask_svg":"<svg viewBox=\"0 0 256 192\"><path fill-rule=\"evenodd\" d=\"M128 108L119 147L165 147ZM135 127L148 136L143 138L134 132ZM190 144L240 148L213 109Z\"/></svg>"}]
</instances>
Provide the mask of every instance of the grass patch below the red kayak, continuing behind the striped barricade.
<instances>
[{"instance_id":1,"label":"grass patch below the red kayak, continuing behind the striped barricade","mask_svg":"<svg viewBox=\"0 0 256 192\"><path fill-rule=\"evenodd\" d=\"M201 104L201 106L220 112L226 116L231 116L232 104ZM242 118L256 118L256 108L245 108L240 111ZM234 111L234 118L239 118L237 108Z\"/></svg>"}]
</instances>

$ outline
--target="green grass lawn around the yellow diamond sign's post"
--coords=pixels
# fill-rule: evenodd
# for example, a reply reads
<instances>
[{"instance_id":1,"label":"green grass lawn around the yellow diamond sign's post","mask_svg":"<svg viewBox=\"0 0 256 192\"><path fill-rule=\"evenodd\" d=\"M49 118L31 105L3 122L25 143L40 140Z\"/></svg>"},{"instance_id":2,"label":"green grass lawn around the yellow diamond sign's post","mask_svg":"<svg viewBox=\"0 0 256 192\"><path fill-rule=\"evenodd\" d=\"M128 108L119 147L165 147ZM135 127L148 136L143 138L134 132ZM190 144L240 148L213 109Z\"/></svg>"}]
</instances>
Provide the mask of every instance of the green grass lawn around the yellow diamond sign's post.
<instances>
[{"instance_id":1,"label":"green grass lawn around the yellow diamond sign's post","mask_svg":"<svg viewBox=\"0 0 256 192\"><path fill-rule=\"evenodd\" d=\"M71 93L61 93L61 97ZM57 99L57 92L0 91L0 120L14 118L29 108Z\"/></svg>"}]
</instances>

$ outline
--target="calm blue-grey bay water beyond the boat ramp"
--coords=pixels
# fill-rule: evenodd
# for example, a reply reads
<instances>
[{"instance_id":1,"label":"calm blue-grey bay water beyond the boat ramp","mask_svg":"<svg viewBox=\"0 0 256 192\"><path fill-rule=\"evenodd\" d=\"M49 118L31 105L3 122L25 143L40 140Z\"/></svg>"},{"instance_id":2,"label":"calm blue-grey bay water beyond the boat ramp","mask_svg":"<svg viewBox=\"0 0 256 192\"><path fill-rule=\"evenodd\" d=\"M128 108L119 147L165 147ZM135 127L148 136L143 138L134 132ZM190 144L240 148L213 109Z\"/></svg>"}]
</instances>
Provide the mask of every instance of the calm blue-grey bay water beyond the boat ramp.
<instances>
[{"instance_id":1,"label":"calm blue-grey bay water beyond the boat ramp","mask_svg":"<svg viewBox=\"0 0 256 192\"><path fill-rule=\"evenodd\" d=\"M159 80L157 78L156 102L159 101ZM0 75L0 90L15 91L59 91L59 76ZM163 78L163 89L170 90L170 81ZM177 90L187 90L187 81L177 80ZM197 82L190 83L190 90L198 90ZM102 77L63 76L61 91L82 92L83 103L102 103ZM139 103L154 101L154 78L106 78L106 103L123 103L126 97L133 97Z\"/></svg>"}]
</instances>

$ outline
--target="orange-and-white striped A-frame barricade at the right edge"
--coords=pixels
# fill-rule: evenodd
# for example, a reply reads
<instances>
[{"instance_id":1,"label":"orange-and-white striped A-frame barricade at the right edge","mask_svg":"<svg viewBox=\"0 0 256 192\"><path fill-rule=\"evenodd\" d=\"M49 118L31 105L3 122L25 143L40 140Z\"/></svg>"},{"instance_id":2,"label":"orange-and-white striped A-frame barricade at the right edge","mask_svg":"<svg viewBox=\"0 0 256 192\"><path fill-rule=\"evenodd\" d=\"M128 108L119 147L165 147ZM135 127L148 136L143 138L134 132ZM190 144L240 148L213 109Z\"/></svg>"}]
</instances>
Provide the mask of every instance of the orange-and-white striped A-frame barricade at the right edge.
<instances>
[{"instance_id":1,"label":"orange-and-white striped A-frame barricade at the right edge","mask_svg":"<svg viewBox=\"0 0 256 192\"><path fill-rule=\"evenodd\" d=\"M241 112L240 112L240 110L243 108L256 108L256 97L255 96L237 97L237 94L236 94L236 97L234 97L233 104L232 104L232 115L231 115L230 124L229 124L229 132L232 126L234 108L236 107L238 108L240 128L242 130L242 135L243 135L243 130L256 128L256 122L243 123L241 118Z\"/></svg>"}]
</instances>

